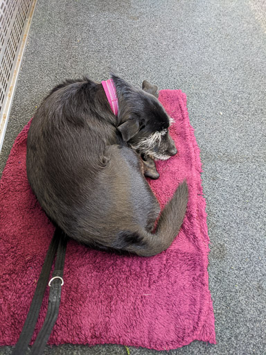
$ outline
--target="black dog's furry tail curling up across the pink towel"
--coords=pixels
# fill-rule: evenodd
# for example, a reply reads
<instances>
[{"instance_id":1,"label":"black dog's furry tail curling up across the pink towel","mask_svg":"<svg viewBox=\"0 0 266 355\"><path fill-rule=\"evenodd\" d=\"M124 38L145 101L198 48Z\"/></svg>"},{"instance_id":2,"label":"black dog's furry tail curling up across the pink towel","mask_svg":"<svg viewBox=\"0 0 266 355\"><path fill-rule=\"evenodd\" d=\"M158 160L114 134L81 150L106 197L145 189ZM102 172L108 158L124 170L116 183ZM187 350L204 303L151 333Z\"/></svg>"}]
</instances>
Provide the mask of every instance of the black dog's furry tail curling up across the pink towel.
<instances>
[{"instance_id":1,"label":"black dog's furry tail curling up across the pink towel","mask_svg":"<svg viewBox=\"0 0 266 355\"><path fill-rule=\"evenodd\" d=\"M124 249L141 257L151 257L166 250L177 236L186 214L188 185L179 184L174 196L161 212L154 234L145 230L123 231L121 237L127 245Z\"/></svg>"}]
</instances>

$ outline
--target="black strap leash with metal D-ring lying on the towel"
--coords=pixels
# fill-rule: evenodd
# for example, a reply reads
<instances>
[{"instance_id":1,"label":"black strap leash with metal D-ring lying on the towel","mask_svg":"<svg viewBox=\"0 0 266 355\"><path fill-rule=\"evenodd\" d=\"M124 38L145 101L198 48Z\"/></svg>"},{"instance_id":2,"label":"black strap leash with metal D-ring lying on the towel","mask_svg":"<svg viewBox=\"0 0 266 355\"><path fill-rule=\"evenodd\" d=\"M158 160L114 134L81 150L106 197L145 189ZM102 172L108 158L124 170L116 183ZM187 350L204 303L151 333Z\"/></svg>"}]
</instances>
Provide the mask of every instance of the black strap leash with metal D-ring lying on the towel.
<instances>
[{"instance_id":1,"label":"black strap leash with metal D-ring lying on the towel","mask_svg":"<svg viewBox=\"0 0 266 355\"><path fill-rule=\"evenodd\" d=\"M46 254L42 272L39 275L39 280L37 282L33 300L30 304L30 310L28 311L24 327L21 331L15 349L12 352L12 355L26 354L28 350L28 344L30 343L30 340L33 336L35 325L39 316L39 311L42 306L42 300L44 298L46 286L48 284L48 286L50 286L50 293L46 318L44 320L42 329L39 331L35 343L33 344L30 354L40 355L44 351L44 347L48 341L59 312L61 287L64 284L62 276L64 270L64 257L67 250L67 240L67 236L60 229L55 230L53 239ZM53 260L55 259L55 253L57 254L55 260L55 270L53 271L53 277L48 283Z\"/></svg>"}]
</instances>

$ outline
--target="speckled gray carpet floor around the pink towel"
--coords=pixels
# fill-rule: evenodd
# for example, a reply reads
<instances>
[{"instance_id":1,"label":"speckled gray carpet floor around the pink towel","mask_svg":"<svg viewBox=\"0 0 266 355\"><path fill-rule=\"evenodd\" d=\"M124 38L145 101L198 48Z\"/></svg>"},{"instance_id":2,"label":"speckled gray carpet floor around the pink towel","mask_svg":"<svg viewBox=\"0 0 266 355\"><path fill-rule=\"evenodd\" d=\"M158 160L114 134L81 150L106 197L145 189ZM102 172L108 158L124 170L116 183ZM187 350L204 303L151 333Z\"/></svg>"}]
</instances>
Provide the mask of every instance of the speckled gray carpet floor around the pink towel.
<instances>
[{"instance_id":1,"label":"speckled gray carpet floor around the pink towel","mask_svg":"<svg viewBox=\"0 0 266 355\"><path fill-rule=\"evenodd\" d=\"M37 1L1 171L35 107L64 78L103 80L111 67L133 85L147 79L187 94L204 169L218 344L195 341L172 355L266 354L265 31L263 0ZM127 351L62 345L45 354Z\"/></svg>"}]
</instances>

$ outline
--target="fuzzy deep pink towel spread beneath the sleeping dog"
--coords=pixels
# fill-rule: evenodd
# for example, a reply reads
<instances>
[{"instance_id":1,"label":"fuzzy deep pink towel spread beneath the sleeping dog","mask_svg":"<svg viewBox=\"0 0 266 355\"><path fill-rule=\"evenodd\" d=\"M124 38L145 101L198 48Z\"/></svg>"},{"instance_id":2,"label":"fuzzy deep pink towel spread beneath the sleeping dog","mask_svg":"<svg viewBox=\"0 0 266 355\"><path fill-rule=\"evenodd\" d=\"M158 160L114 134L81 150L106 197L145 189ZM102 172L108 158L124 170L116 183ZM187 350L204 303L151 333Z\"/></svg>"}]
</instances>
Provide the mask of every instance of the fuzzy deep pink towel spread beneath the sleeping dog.
<instances>
[{"instance_id":1,"label":"fuzzy deep pink towel spread beneath the sleeping dog","mask_svg":"<svg viewBox=\"0 0 266 355\"><path fill-rule=\"evenodd\" d=\"M190 197L183 227L168 250L148 258L118 256L70 241L60 313L49 344L112 343L157 350L193 340L215 344L199 148L186 95L162 90L159 100L175 120L170 133L179 153L157 163L160 178L150 186L163 207L187 179ZM54 231L26 177L29 125L17 137L1 178L0 345L14 345L19 338ZM47 302L48 287L33 340Z\"/></svg>"}]
</instances>

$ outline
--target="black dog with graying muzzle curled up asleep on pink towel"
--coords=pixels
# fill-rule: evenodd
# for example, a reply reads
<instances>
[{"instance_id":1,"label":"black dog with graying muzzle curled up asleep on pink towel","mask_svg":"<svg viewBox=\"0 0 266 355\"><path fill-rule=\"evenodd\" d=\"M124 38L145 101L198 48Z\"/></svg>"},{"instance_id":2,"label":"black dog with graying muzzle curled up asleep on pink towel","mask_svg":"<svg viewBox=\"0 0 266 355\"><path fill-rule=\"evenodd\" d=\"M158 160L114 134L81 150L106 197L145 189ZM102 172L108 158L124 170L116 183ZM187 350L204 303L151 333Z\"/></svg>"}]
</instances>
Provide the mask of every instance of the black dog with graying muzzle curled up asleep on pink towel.
<instances>
[{"instance_id":1,"label":"black dog with graying muzzle curled up asleep on pink towel","mask_svg":"<svg viewBox=\"0 0 266 355\"><path fill-rule=\"evenodd\" d=\"M53 223L98 250L149 257L166 250L186 213L188 187L179 184L161 212L145 176L158 178L154 159L177 153L170 117L157 87L137 89L112 74L118 115L101 83L89 78L55 87L28 132L30 186Z\"/></svg>"}]
</instances>

